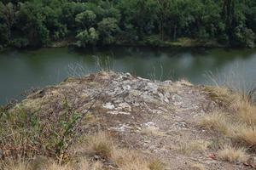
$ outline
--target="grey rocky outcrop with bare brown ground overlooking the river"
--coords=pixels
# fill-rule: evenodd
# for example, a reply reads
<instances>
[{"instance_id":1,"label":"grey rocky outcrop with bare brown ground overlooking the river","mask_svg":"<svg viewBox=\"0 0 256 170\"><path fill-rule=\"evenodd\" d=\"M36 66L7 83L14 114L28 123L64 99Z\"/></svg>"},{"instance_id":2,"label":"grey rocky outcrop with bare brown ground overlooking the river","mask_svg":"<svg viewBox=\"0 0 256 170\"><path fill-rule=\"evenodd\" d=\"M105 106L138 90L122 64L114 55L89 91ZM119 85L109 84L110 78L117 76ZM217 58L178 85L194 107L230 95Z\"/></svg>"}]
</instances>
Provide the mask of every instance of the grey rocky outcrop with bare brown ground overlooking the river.
<instances>
[{"instance_id":1,"label":"grey rocky outcrop with bare brown ground overlooking the river","mask_svg":"<svg viewBox=\"0 0 256 170\"><path fill-rule=\"evenodd\" d=\"M39 90L11 110L22 106L40 116L58 116L64 105L86 114L88 122L80 127L81 133L117 133L120 144L159 157L167 169L190 169L197 164L208 169L242 168L212 160L211 148L200 149L214 141L197 126L198 117L215 107L203 86L100 72Z\"/></svg>"}]
</instances>

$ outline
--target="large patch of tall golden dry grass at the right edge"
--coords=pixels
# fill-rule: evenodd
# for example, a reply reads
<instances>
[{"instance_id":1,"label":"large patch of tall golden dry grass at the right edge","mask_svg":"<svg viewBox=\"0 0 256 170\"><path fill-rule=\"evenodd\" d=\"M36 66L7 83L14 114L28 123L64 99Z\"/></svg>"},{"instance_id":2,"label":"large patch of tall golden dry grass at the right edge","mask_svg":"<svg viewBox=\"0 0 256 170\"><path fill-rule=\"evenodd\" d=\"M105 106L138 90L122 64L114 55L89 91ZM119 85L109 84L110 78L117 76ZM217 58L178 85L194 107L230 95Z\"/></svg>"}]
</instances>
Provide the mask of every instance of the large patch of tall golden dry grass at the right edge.
<instances>
[{"instance_id":1,"label":"large patch of tall golden dry grass at the right edge","mask_svg":"<svg viewBox=\"0 0 256 170\"><path fill-rule=\"evenodd\" d=\"M256 126L256 105L253 105L249 97L227 88L207 89L211 89L211 94L221 99L226 107L224 108L225 111L214 111L212 114L202 117L200 122L202 127L229 134L231 137L238 135L241 138L244 136L243 134L246 134L245 131L253 134ZM236 132L234 133L234 131Z\"/></svg>"}]
</instances>

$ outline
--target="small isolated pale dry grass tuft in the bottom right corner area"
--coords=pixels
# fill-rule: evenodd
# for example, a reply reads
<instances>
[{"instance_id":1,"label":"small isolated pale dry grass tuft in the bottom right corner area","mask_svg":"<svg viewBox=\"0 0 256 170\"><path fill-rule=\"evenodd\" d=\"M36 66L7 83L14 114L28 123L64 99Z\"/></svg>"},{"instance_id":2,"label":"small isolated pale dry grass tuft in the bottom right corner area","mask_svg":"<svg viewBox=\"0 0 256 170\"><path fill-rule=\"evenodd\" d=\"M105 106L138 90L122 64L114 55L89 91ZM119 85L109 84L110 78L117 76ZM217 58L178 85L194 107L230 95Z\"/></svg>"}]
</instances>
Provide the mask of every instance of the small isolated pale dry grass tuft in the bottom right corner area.
<instances>
[{"instance_id":1,"label":"small isolated pale dry grass tuft in the bottom right corner area","mask_svg":"<svg viewBox=\"0 0 256 170\"><path fill-rule=\"evenodd\" d=\"M217 157L223 161L230 162L246 162L249 158L245 149L231 147L230 145L218 150Z\"/></svg>"}]
</instances>

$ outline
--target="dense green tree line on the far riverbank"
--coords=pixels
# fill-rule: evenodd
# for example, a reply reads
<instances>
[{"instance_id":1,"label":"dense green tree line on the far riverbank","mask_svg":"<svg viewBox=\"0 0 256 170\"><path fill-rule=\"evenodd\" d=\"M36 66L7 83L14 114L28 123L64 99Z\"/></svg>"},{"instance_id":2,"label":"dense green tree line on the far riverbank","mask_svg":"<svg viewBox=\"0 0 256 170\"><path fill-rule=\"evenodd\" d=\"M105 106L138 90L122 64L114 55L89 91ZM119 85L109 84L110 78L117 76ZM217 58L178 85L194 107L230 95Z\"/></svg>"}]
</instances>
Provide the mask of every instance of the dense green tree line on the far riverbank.
<instances>
[{"instance_id":1,"label":"dense green tree line on the far riverbank","mask_svg":"<svg viewBox=\"0 0 256 170\"><path fill-rule=\"evenodd\" d=\"M159 45L179 37L253 47L255 0L2 0L0 46Z\"/></svg>"}]
</instances>

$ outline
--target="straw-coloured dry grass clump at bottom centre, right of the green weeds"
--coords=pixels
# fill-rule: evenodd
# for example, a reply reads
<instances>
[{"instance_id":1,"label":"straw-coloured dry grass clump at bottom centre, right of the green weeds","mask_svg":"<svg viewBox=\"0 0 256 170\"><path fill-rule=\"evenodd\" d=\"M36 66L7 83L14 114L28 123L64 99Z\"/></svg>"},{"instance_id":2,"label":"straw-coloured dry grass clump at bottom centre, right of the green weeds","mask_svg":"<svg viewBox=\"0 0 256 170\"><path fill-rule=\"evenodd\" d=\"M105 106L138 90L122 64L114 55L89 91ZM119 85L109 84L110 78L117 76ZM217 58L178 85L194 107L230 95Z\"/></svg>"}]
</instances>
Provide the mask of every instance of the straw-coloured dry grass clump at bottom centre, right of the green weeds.
<instances>
[{"instance_id":1,"label":"straw-coloured dry grass clump at bottom centre, right of the green weeds","mask_svg":"<svg viewBox=\"0 0 256 170\"><path fill-rule=\"evenodd\" d=\"M120 148L113 141L108 133L96 133L86 137L87 143L80 145L77 152L84 152L90 156L101 156L104 160L108 159L122 170L161 170L164 164L154 158L148 158L142 152ZM88 163L83 165L88 166ZM95 165L94 165L95 166ZM90 165L90 167L93 167ZM85 168L84 168L85 169Z\"/></svg>"}]
</instances>

